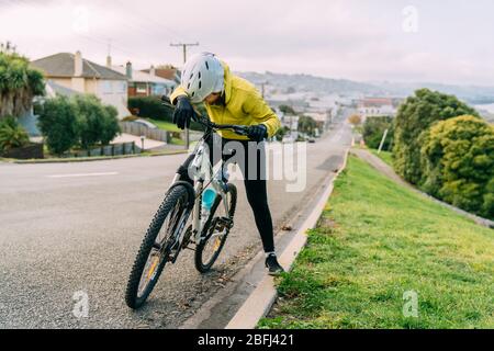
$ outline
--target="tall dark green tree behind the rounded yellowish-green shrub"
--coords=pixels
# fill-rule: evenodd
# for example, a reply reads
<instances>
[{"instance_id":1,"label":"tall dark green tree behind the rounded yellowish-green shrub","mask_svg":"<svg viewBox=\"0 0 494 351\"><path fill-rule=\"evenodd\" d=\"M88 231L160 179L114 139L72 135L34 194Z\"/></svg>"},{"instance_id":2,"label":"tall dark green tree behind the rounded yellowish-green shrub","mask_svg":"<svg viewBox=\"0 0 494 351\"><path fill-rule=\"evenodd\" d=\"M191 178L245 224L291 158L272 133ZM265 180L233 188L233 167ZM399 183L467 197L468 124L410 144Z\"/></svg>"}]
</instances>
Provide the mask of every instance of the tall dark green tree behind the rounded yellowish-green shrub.
<instances>
[{"instance_id":1,"label":"tall dark green tree behind the rounded yellowish-green shrub","mask_svg":"<svg viewBox=\"0 0 494 351\"><path fill-rule=\"evenodd\" d=\"M394 125L394 168L413 184L422 180L420 144L418 137L435 122L460 115L478 116L475 110L453 95L420 89L403 103Z\"/></svg>"}]
</instances>

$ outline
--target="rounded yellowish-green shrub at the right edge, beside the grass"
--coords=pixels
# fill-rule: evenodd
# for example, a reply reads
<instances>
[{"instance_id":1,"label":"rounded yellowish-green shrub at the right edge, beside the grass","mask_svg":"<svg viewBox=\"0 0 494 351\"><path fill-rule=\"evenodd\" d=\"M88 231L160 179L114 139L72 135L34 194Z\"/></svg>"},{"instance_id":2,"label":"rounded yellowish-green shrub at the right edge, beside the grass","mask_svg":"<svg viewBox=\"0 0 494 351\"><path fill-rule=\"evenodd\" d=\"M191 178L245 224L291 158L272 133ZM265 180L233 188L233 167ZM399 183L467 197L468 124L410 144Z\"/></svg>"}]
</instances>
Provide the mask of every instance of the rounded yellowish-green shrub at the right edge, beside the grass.
<instances>
[{"instance_id":1,"label":"rounded yellowish-green shrub at the right edge, beside the grass","mask_svg":"<svg viewBox=\"0 0 494 351\"><path fill-rule=\"evenodd\" d=\"M494 127L475 116L435 124L420 138L422 188L446 202L494 217Z\"/></svg>"}]
</instances>

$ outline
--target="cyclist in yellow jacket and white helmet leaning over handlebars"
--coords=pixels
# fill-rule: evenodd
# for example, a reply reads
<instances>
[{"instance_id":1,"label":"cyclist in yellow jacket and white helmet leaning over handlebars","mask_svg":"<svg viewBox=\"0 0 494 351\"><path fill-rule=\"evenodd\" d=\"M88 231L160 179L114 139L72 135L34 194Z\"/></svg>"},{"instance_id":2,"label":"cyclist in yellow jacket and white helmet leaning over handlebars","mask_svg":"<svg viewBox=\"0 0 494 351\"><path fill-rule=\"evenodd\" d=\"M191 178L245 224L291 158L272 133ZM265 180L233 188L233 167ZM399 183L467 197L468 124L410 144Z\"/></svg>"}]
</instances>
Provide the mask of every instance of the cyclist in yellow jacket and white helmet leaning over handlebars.
<instances>
[{"instance_id":1,"label":"cyclist in yellow jacket and white helmet leaning over handlebars","mask_svg":"<svg viewBox=\"0 0 494 351\"><path fill-rule=\"evenodd\" d=\"M194 55L186 63L181 83L171 93L170 101L176 105L173 123L181 129L190 126L195 113L192 104L195 103L204 103L214 123L249 126L247 137L221 131L220 146L213 140L209 140L209 144L210 148L223 147L228 141L242 144L245 160L239 162L239 167L244 176L247 200L262 239L266 268L271 275L282 273L283 268L278 263L274 252L272 219L263 173L266 171L263 140L279 129L278 116L251 83L233 75L224 61L209 53ZM249 143L256 143L255 147L252 145L249 147ZM211 150L211 155L214 154ZM251 162L255 160L257 166L255 171L249 172L249 160ZM216 161L212 159L213 165Z\"/></svg>"}]
</instances>

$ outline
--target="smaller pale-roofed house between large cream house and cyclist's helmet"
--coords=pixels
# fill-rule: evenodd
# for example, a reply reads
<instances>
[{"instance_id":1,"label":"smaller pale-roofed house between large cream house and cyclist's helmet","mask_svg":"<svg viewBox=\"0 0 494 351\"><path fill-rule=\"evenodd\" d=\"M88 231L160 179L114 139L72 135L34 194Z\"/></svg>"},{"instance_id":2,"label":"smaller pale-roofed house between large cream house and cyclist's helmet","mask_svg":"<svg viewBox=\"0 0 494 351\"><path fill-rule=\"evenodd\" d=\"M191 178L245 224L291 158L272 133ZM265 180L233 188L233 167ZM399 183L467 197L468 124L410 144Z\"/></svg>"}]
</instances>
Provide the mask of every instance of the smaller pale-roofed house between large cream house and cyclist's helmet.
<instances>
[{"instance_id":1,"label":"smaller pale-roofed house between large cream house and cyclist's helmet","mask_svg":"<svg viewBox=\"0 0 494 351\"><path fill-rule=\"evenodd\" d=\"M177 87L175 81L158 77L153 66L148 72L145 72L133 69L132 63L125 66L112 66L111 57L108 57L106 67L127 77L128 97L169 95Z\"/></svg>"}]
</instances>

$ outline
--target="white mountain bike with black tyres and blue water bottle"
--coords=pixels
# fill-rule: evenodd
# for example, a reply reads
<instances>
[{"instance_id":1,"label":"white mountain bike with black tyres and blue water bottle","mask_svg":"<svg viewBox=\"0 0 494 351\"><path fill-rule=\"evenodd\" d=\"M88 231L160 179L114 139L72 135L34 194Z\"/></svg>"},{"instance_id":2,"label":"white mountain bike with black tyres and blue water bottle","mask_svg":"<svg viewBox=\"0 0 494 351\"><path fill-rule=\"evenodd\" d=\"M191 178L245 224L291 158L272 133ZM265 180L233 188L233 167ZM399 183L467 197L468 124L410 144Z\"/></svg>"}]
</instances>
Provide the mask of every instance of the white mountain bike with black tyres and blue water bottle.
<instances>
[{"instance_id":1,"label":"white mountain bike with black tyres and blue water bottle","mask_svg":"<svg viewBox=\"0 0 494 351\"><path fill-rule=\"evenodd\" d=\"M220 129L246 136L248 127L217 125L204 116L195 116L194 121L205 127L204 135L177 170L147 229L128 278L125 302L133 309L143 306L165 265L175 264L184 249L194 251L199 272L209 272L234 225L237 189L227 182L223 157L218 171L213 173L206 140ZM203 205L205 194L210 206Z\"/></svg>"}]
</instances>

